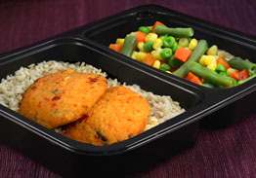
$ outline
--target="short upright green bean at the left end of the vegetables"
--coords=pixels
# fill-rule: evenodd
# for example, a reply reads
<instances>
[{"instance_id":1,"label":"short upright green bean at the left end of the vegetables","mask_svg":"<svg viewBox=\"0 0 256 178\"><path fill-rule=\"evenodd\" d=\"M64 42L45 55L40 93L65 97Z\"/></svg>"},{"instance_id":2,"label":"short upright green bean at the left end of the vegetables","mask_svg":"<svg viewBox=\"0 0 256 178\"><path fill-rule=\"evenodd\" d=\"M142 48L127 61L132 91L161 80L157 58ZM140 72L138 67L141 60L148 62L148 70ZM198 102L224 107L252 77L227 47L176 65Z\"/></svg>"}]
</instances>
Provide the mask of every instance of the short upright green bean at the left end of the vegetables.
<instances>
[{"instance_id":1,"label":"short upright green bean at the left end of the vegetables","mask_svg":"<svg viewBox=\"0 0 256 178\"><path fill-rule=\"evenodd\" d=\"M137 40L135 34L126 35L121 53L131 56L136 44Z\"/></svg>"}]
</instances>

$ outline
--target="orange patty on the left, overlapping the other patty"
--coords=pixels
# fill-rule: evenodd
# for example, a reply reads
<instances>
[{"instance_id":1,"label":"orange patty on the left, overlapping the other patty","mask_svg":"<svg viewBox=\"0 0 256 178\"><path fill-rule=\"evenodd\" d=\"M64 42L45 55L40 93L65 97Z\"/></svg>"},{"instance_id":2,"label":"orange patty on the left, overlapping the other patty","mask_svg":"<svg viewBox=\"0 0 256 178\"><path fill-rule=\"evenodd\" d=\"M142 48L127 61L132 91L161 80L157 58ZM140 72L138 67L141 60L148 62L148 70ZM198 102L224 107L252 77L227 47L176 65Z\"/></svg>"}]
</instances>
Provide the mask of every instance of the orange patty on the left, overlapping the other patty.
<instances>
[{"instance_id":1,"label":"orange patty on the left, overlapping the other patty","mask_svg":"<svg viewBox=\"0 0 256 178\"><path fill-rule=\"evenodd\" d=\"M87 116L107 90L107 79L66 69L38 79L23 94L19 112L48 128Z\"/></svg>"}]
</instances>

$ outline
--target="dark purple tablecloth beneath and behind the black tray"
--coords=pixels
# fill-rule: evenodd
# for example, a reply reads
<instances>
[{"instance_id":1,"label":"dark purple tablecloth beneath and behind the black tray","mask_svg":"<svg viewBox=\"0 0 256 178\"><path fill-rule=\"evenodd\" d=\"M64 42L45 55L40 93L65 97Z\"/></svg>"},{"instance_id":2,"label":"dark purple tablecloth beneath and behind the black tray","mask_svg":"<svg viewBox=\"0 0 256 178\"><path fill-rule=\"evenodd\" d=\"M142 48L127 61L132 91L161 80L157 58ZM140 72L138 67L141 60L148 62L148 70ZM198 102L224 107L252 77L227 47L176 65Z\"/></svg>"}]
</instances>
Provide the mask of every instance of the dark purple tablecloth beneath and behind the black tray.
<instances>
[{"instance_id":1,"label":"dark purple tablecloth beneath and behind the black tray","mask_svg":"<svg viewBox=\"0 0 256 178\"><path fill-rule=\"evenodd\" d=\"M6 3L1 1L0 4L0 53L33 44L131 7L156 2L193 17L256 35L254 0L215 0L208 3L203 0L12 0ZM131 176L255 177L256 113L253 113L226 129L201 129L198 141L192 149L170 160L159 162L148 171L135 172ZM0 145L0 177L59 176L15 150Z\"/></svg>"}]
</instances>

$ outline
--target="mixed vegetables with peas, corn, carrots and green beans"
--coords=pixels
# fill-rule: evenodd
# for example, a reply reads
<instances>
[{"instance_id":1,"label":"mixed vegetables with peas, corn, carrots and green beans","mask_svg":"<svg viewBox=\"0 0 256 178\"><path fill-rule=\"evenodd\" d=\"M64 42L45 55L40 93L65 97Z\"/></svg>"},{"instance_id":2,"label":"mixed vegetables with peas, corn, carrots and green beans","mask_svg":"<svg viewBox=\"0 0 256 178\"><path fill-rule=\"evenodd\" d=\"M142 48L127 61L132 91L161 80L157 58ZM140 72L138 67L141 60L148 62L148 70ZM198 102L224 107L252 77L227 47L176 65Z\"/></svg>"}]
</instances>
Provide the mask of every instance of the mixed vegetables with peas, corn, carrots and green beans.
<instances>
[{"instance_id":1,"label":"mixed vegetables with peas, corn, carrots and green beans","mask_svg":"<svg viewBox=\"0 0 256 178\"><path fill-rule=\"evenodd\" d=\"M193 29L172 28L156 21L118 38L109 49L161 71L209 88L231 88L256 76L256 64L208 47L193 38Z\"/></svg>"}]
</instances>

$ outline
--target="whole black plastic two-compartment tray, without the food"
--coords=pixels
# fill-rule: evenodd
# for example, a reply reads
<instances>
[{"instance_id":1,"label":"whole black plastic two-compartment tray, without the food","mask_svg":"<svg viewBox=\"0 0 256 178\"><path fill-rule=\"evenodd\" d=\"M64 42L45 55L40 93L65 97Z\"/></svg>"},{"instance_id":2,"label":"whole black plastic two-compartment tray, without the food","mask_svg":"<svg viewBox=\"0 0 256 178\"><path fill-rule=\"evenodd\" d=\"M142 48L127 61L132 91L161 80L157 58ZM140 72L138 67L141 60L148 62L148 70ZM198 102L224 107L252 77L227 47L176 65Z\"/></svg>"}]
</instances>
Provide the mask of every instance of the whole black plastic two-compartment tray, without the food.
<instances>
[{"instance_id":1,"label":"whole black plastic two-compartment tray, without the food","mask_svg":"<svg viewBox=\"0 0 256 178\"><path fill-rule=\"evenodd\" d=\"M101 68L109 77L117 78L120 82L137 84L156 94L171 95L186 112L123 142L96 147L67 139L0 105L0 142L18 149L63 176L101 173L99 170L119 170L123 173L149 168L182 148L191 146L196 140L201 118L203 125L227 125L233 123L237 116L253 112L255 79L233 89L207 89L107 49L108 44L117 37L155 20L192 26L196 38L204 38L223 50L255 62L256 42L248 37L159 6L131 9L2 56L0 78L13 74L21 66L44 60L85 62ZM134 161L138 163L132 163Z\"/></svg>"}]
</instances>

